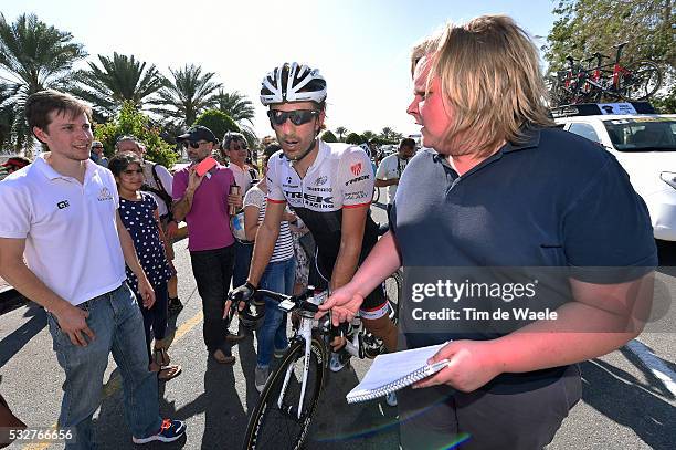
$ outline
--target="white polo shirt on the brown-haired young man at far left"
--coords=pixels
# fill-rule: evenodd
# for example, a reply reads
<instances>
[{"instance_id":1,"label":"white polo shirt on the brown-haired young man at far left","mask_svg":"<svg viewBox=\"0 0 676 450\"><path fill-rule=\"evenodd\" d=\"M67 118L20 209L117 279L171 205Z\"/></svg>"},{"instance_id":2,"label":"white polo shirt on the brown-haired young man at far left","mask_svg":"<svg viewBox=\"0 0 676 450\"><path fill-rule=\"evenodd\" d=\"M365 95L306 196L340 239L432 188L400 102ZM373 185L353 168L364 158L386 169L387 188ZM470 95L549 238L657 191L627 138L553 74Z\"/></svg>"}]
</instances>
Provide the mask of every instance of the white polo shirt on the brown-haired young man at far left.
<instances>
[{"instance_id":1,"label":"white polo shirt on the brown-haired young man at far left","mask_svg":"<svg viewBox=\"0 0 676 450\"><path fill-rule=\"evenodd\" d=\"M86 161L84 185L55 171L49 153L0 181L0 237L25 239L29 268L73 305L126 279L110 170Z\"/></svg>"}]
</instances>

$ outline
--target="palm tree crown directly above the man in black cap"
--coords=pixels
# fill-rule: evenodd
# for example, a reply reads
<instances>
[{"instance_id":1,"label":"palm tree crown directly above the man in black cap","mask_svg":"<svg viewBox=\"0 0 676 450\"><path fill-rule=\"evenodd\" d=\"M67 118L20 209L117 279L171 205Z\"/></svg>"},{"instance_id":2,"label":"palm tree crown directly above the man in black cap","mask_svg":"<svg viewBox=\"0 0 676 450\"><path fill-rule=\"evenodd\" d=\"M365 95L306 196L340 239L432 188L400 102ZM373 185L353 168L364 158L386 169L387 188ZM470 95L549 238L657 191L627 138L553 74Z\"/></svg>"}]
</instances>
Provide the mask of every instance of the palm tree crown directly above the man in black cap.
<instances>
[{"instance_id":1,"label":"palm tree crown directly above the man in black cap","mask_svg":"<svg viewBox=\"0 0 676 450\"><path fill-rule=\"evenodd\" d=\"M165 87L151 102L159 107L150 111L165 116L167 122L188 127L202 112L214 106L214 92L221 87L221 83L212 81L215 73L202 74L202 67L194 64L186 64L176 70L169 69L169 72L173 81L165 81Z\"/></svg>"}]
</instances>

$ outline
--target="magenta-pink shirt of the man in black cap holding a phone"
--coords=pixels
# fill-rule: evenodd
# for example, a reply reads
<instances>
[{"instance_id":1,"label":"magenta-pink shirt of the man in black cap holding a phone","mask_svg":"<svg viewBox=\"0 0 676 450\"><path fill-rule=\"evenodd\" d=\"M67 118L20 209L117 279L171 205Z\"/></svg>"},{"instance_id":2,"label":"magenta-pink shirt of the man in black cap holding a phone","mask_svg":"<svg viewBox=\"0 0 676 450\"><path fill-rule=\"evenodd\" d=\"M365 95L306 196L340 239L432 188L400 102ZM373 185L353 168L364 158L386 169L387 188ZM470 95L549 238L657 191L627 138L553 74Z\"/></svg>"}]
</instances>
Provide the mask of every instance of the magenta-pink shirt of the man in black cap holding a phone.
<instances>
[{"instance_id":1,"label":"magenta-pink shirt of the man in black cap holding a phone","mask_svg":"<svg viewBox=\"0 0 676 450\"><path fill-rule=\"evenodd\" d=\"M175 200L180 200L186 193L188 170L186 167L173 176ZM228 167L221 165L211 169L209 175L211 178L204 178L194 191L192 207L186 216L190 251L222 249L234 243L228 212L228 195L234 177Z\"/></svg>"}]
</instances>

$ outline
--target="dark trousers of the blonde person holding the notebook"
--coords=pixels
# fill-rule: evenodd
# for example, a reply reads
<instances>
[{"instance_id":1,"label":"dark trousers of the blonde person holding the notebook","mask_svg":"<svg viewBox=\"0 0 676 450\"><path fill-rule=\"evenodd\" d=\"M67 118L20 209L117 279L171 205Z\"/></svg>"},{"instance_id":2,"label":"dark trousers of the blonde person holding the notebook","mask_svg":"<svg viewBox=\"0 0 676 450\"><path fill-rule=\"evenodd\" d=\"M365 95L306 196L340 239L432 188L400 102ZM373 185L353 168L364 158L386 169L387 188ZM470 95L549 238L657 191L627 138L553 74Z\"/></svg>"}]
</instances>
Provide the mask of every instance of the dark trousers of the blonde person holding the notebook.
<instances>
[{"instance_id":1,"label":"dark trousers of the blonde person holding the notebook","mask_svg":"<svg viewBox=\"0 0 676 450\"><path fill-rule=\"evenodd\" d=\"M402 449L540 450L582 397L580 369L519 394L460 393L448 386L397 393ZM454 447L455 448L455 447Z\"/></svg>"}]
</instances>

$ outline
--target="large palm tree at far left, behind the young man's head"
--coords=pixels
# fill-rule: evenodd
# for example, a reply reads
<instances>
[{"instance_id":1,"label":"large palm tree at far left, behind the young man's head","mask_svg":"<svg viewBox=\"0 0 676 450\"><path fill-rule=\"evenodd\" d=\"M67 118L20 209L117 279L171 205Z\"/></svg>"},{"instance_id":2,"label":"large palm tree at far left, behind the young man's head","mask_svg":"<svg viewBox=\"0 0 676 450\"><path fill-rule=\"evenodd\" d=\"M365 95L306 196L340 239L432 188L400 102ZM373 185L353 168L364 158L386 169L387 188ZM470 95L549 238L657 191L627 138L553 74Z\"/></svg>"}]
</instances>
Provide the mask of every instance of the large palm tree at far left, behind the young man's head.
<instances>
[{"instance_id":1,"label":"large palm tree at far left, behind the young man's head","mask_svg":"<svg viewBox=\"0 0 676 450\"><path fill-rule=\"evenodd\" d=\"M83 45L72 40L71 33L49 27L35 14L22 14L10 24L0 13L0 69L7 75L2 76L6 86L0 107L13 109L14 148L24 147L31 138L23 115L25 98L47 87L67 88L73 64L87 55Z\"/></svg>"}]
</instances>

